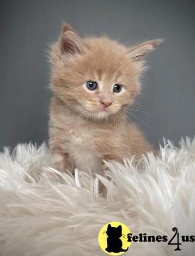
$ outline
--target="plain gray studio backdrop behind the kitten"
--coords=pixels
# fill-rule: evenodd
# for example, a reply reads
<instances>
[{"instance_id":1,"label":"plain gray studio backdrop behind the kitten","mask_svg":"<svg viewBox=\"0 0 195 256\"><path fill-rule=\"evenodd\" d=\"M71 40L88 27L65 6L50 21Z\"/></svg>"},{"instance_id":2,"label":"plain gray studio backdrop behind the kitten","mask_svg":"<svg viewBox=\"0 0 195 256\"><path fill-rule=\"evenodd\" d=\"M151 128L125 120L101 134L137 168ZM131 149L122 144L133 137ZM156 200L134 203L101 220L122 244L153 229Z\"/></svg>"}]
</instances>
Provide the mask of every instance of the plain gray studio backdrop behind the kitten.
<instances>
[{"instance_id":1,"label":"plain gray studio backdrop behind the kitten","mask_svg":"<svg viewBox=\"0 0 195 256\"><path fill-rule=\"evenodd\" d=\"M150 53L143 93L132 107L149 140L195 134L194 4L155 0L41 0L0 2L0 147L47 140L50 92L46 50L60 24L80 35L121 42L164 38ZM136 120L136 118L132 118Z\"/></svg>"}]
</instances>

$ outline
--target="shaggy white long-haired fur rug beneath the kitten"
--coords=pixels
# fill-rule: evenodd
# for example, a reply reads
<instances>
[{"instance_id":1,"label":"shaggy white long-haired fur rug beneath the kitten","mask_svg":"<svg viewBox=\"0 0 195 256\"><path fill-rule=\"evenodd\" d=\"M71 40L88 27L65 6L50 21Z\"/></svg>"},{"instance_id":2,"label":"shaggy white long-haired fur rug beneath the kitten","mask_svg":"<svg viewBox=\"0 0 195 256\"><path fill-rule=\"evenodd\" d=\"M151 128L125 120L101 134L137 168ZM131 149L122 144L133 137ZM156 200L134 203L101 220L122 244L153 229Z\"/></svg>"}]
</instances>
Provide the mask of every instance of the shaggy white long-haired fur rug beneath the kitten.
<instances>
[{"instance_id":1,"label":"shaggy white long-haired fur rug beneath the kitten","mask_svg":"<svg viewBox=\"0 0 195 256\"><path fill-rule=\"evenodd\" d=\"M49 152L18 145L0 153L0 255L106 255L97 242L108 222L133 235L167 235L178 228L181 251L168 242L132 242L124 255L195 255L195 140L169 141L138 165L107 163L104 176L48 168ZM99 182L106 195L99 193ZM176 237L175 237L176 239Z\"/></svg>"}]
</instances>

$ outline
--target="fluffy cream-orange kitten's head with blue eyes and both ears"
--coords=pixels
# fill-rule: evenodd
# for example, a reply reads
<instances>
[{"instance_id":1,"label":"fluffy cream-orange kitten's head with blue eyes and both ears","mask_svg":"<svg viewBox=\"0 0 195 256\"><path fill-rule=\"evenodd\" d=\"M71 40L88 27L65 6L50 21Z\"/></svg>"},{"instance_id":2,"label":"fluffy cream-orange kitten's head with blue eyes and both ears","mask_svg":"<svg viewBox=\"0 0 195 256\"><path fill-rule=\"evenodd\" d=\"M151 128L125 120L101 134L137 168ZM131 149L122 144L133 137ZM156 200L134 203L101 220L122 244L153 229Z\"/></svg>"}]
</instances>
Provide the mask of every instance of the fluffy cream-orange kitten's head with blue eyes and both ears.
<instances>
[{"instance_id":1,"label":"fluffy cream-orange kitten's head with blue eyes and both ears","mask_svg":"<svg viewBox=\"0 0 195 256\"><path fill-rule=\"evenodd\" d=\"M106 37L80 38L64 23L50 55L53 92L78 115L98 119L117 114L133 103L144 57L160 43L127 48Z\"/></svg>"}]
</instances>

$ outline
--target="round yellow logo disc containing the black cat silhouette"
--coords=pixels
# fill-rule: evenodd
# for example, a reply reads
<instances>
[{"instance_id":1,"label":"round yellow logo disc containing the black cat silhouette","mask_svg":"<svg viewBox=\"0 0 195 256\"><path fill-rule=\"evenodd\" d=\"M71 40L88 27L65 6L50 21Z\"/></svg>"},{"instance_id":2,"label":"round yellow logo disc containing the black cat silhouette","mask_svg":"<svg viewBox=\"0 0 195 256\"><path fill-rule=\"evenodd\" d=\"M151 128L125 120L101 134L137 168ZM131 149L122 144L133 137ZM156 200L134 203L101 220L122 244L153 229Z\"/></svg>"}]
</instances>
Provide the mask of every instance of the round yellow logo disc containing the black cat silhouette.
<instances>
[{"instance_id":1,"label":"round yellow logo disc containing the black cat silhouette","mask_svg":"<svg viewBox=\"0 0 195 256\"><path fill-rule=\"evenodd\" d=\"M131 246L128 234L131 231L123 223L109 222L104 225L99 233L98 242L103 252L109 255L120 255Z\"/></svg>"}]
</instances>

